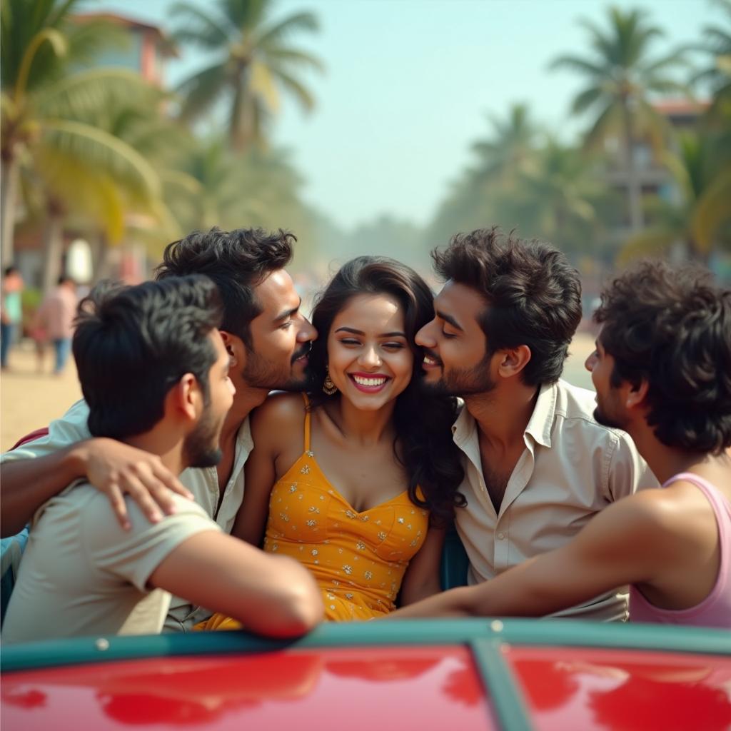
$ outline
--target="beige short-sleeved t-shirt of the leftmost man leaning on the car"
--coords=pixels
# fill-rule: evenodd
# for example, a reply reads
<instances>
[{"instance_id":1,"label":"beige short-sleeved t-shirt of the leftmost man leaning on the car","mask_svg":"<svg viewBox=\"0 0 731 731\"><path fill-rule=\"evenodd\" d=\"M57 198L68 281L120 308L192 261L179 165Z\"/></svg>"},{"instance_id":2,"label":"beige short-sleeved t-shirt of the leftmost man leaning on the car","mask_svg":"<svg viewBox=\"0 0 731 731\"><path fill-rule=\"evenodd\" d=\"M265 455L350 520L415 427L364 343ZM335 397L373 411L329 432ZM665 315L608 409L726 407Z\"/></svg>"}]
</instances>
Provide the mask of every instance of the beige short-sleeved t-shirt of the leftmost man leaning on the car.
<instances>
[{"instance_id":1,"label":"beige short-sleeved t-shirt of the leftmost man leaning on the car","mask_svg":"<svg viewBox=\"0 0 731 731\"><path fill-rule=\"evenodd\" d=\"M4 643L160 632L170 594L151 591L148 578L189 537L221 530L199 505L178 496L175 501L177 512L154 524L126 499L129 531L86 482L45 503L20 562Z\"/></svg>"}]
</instances>

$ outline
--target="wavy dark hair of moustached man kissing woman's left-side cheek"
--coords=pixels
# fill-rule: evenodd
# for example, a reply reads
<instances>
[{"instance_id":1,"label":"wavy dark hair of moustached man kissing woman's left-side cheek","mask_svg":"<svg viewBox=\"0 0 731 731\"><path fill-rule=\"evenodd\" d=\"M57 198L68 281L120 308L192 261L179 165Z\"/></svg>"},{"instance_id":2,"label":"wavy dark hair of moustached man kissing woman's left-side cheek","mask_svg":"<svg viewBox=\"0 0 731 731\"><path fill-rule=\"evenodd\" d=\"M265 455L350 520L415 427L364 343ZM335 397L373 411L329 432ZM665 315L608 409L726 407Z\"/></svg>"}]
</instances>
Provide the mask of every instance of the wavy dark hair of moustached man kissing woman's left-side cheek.
<instances>
[{"instance_id":1,"label":"wavy dark hair of moustached man kissing woman's left-side cheek","mask_svg":"<svg viewBox=\"0 0 731 731\"><path fill-rule=\"evenodd\" d=\"M279 229L194 231L165 247L156 279L205 274L219 288L224 306L221 330L240 337L251 350L251 320L262 312L254 287L292 259L295 235Z\"/></svg>"}]
</instances>

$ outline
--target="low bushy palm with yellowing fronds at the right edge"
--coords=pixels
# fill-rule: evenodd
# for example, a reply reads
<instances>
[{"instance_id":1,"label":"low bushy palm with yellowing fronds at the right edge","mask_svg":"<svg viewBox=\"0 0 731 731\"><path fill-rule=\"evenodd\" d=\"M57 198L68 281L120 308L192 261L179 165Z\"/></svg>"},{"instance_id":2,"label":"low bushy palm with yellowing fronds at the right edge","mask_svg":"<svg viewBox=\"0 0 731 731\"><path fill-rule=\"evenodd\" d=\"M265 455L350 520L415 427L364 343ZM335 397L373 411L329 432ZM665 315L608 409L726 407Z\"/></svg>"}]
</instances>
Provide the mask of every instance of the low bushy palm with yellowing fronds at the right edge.
<instances>
[{"instance_id":1,"label":"low bushy palm with yellowing fronds at the right edge","mask_svg":"<svg viewBox=\"0 0 731 731\"><path fill-rule=\"evenodd\" d=\"M719 232L731 221L731 151L719 139L686 132L678 140L678 152L664 154L675 195L651 201L654 223L627 241L621 261L683 243L689 257L708 262Z\"/></svg>"}]
</instances>

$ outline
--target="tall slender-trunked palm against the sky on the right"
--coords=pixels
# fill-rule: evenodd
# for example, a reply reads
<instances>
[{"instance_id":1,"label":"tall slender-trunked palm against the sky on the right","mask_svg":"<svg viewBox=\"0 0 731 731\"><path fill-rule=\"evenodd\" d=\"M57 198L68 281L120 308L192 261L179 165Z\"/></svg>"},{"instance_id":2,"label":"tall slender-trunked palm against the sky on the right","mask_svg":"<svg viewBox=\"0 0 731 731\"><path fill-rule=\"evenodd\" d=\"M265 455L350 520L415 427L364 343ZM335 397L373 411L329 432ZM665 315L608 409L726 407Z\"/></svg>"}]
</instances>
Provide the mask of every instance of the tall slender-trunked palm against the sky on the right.
<instances>
[{"instance_id":1,"label":"tall slender-trunked palm against the sky on the right","mask_svg":"<svg viewBox=\"0 0 731 731\"><path fill-rule=\"evenodd\" d=\"M607 29L589 20L581 24L589 34L591 56L559 56L551 68L572 69L586 77L587 86L575 97L572 111L594 110L596 114L587 144L612 136L623 141L629 220L636 231L643 225L643 213L635 143L649 138L657 146L662 137L664 121L652 107L650 95L685 93L686 88L668 75L670 69L683 63L683 52L650 58L651 43L662 31L648 23L641 10L610 8Z\"/></svg>"}]
</instances>

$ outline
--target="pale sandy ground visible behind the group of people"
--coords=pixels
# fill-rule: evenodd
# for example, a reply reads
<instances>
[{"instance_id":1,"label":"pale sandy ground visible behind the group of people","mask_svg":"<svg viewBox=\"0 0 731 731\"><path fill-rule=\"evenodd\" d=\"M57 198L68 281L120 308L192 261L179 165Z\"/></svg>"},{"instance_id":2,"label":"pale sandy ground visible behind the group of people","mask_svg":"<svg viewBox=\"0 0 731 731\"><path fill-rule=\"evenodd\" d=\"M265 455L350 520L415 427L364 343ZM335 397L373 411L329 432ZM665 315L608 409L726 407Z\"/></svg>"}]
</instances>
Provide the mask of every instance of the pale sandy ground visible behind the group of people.
<instances>
[{"instance_id":1,"label":"pale sandy ground visible behind the group of people","mask_svg":"<svg viewBox=\"0 0 731 731\"><path fill-rule=\"evenodd\" d=\"M592 336L580 333L571 344L564 377L577 386L591 388L591 378L583 367L594 348ZM53 376L53 353L45 356L45 373L37 371L37 360L31 341L16 345L10 353L10 370L0 376L0 451L9 450L21 436L47 426L60 417L78 398L81 389L73 359L66 372Z\"/></svg>"}]
</instances>

